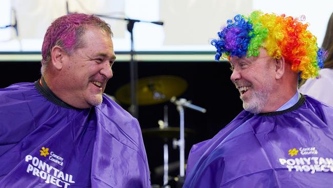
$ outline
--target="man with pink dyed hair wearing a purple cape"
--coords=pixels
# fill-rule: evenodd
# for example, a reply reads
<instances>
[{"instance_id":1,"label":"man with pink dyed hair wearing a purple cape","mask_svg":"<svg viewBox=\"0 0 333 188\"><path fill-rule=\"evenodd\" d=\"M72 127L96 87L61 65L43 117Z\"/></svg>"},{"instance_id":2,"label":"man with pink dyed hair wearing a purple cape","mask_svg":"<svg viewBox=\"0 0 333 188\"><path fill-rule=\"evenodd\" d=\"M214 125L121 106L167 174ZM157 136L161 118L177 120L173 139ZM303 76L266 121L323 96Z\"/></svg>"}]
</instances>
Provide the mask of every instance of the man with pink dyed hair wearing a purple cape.
<instances>
[{"instance_id":1,"label":"man with pink dyed hair wearing a purple cape","mask_svg":"<svg viewBox=\"0 0 333 188\"><path fill-rule=\"evenodd\" d=\"M103 95L110 26L70 14L48 28L41 79L0 89L0 187L150 187L138 121Z\"/></svg>"}]
</instances>

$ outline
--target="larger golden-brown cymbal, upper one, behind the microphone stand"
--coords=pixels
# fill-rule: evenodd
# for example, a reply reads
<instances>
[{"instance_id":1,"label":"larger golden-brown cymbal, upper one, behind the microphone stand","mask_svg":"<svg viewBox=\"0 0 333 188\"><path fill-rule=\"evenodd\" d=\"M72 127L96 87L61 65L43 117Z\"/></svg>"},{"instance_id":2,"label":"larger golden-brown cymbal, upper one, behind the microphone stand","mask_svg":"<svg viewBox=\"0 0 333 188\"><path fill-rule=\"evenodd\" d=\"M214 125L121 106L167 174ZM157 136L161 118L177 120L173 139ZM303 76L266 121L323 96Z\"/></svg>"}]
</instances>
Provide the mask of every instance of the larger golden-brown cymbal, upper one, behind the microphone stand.
<instances>
[{"instance_id":1,"label":"larger golden-brown cymbal, upper one, behind the microphone stand","mask_svg":"<svg viewBox=\"0 0 333 188\"><path fill-rule=\"evenodd\" d=\"M176 76L161 75L141 78L137 81L138 105L152 105L169 101L173 96L180 96L188 83ZM121 86L115 97L123 104L131 104L131 83Z\"/></svg>"}]
</instances>

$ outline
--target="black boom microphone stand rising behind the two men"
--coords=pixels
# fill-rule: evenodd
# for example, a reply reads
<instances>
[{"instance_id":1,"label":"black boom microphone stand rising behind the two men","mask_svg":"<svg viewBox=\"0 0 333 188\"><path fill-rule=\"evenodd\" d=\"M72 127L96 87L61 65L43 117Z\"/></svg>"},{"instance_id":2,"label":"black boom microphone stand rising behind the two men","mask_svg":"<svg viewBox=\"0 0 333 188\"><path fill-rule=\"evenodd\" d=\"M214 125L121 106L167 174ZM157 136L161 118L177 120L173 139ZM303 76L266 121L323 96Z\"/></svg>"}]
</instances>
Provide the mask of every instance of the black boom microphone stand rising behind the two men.
<instances>
[{"instance_id":1,"label":"black boom microphone stand rising behind the two men","mask_svg":"<svg viewBox=\"0 0 333 188\"><path fill-rule=\"evenodd\" d=\"M142 21L142 20L134 20L130 18L121 18L121 17L112 17L112 16L106 16L106 15L100 15L95 14L96 16L100 17L106 17L114 20L123 20L128 21L127 24L127 30L131 34L131 62L130 62L130 83L131 83L131 106L130 106L130 112L133 117L138 118L139 110L138 110L138 101L136 96L136 90L137 90L137 79L138 79L138 65L137 62L134 61L134 40L133 40L133 28L134 24L137 22L145 22L145 23L151 23L156 25L163 25L163 22L149 22L149 21Z\"/></svg>"}]
</instances>

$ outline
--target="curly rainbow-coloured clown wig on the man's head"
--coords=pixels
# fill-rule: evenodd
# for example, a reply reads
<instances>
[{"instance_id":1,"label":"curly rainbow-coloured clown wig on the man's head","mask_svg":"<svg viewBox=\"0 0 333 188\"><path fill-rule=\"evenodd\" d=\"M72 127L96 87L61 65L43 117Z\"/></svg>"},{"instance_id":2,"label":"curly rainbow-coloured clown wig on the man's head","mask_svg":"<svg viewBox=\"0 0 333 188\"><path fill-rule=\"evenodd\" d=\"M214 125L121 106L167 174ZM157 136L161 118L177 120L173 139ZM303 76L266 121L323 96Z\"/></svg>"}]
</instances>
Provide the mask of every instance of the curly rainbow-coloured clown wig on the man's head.
<instances>
[{"instance_id":1,"label":"curly rainbow-coloured clown wig on the man's head","mask_svg":"<svg viewBox=\"0 0 333 188\"><path fill-rule=\"evenodd\" d=\"M301 21L304 17L261 11L254 11L248 17L238 14L218 32L219 39L212 40L211 44L217 49L215 59L256 57L263 47L272 58L283 56L302 79L318 77L327 52L317 46L317 37L307 31L308 24Z\"/></svg>"}]
</instances>

